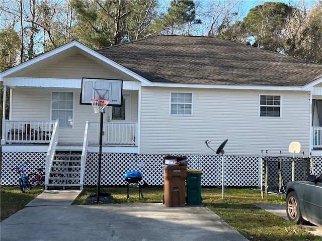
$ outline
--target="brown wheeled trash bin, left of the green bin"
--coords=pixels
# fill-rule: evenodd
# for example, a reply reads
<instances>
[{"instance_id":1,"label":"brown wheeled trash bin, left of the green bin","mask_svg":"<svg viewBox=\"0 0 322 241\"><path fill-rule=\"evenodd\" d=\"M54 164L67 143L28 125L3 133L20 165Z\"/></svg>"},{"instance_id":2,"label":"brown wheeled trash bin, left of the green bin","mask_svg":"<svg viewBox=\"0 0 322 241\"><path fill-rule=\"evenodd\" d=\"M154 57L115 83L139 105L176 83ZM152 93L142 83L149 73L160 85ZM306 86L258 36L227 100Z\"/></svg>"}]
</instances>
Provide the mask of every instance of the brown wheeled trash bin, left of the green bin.
<instances>
[{"instance_id":1,"label":"brown wheeled trash bin, left of the green bin","mask_svg":"<svg viewBox=\"0 0 322 241\"><path fill-rule=\"evenodd\" d=\"M164 169L164 202L166 207L186 205L187 166L168 166Z\"/></svg>"}]
</instances>

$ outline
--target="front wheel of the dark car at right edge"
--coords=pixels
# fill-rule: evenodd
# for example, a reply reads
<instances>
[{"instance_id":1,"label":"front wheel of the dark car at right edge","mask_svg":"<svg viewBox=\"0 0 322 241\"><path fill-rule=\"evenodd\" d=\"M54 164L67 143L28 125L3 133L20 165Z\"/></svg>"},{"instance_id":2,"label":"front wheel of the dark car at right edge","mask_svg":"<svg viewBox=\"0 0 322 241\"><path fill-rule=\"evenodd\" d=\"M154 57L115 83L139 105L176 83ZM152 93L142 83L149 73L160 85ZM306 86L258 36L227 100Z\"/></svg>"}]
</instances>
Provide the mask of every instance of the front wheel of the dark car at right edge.
<instances>
[{"instance_id":1,"label":"front wheel of the dark car at right edge","mask_svg":"<svg viewBox=\"0 0 322 241\"><path fill-rule=\"evenodd\" d=\"M297 224L304 222L296 193L290 192L286 197L286 213L290 221Z\"/></svg>"}]
</instances>

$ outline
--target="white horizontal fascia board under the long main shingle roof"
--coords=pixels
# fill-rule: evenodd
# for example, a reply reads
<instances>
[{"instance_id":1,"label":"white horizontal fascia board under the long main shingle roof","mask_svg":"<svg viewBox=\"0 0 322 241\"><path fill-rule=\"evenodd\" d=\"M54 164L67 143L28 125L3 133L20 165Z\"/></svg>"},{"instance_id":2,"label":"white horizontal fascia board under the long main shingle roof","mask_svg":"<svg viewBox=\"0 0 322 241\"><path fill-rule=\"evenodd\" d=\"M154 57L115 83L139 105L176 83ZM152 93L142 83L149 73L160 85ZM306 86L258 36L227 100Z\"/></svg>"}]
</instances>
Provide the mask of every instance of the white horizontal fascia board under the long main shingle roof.
<instances>
[{"instance_id":1,"label":"white horizontal fascia board under the long main shingle roof","mask_svg":"<svg viewBox=\"0 0 322 241\"><path fill-rule=\"evenodd\" d=\"M153 87L172 88L207 88L207 89L248 89L248 90L290 90L303 91L299 86L264 86L264 85L219 85L219 84L173 84L173 83L152 83Z\"/></svg>"}]
</instances>

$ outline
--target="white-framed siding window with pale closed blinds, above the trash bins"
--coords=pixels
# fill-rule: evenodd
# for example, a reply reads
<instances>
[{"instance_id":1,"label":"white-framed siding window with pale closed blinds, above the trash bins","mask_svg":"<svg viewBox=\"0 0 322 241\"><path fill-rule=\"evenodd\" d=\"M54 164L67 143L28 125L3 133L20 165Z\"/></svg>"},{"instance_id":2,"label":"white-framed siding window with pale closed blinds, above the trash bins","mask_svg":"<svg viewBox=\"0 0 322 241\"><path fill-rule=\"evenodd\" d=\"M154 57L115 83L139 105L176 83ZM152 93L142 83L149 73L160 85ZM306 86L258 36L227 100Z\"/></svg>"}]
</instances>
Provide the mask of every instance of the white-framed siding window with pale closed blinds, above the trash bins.
<instances>
[{"instance_id":1,"label":"white-framed siding window with pale closed blinds, above the trash bins","mask_svg":"<svg viewBox=\"0 0 322 241\"><path fill-rule=\"evenodd\" d=\"M170 114L192 115L192 93L171 93Z\"/></svg>"}]
</instances>

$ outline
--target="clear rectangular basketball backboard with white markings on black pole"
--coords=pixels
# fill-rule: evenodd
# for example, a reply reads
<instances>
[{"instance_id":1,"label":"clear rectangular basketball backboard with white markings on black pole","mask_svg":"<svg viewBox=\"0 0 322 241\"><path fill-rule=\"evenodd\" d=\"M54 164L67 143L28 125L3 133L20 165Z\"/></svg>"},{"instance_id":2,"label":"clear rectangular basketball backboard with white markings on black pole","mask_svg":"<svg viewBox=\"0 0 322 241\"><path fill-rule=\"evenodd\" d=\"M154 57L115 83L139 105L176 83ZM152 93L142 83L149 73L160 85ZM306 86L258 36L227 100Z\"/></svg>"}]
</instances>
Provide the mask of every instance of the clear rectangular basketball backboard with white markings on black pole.
<instances>
[{"instance_id":1,"label":"clear rectangular basketball backboard with white markings on black pole","mask_svg":"<svg viewBox=\"0 0 322 241\"><path fill-rule=\"evenodd\" d=\"M108 99L109 105L121 105L122 83L120 79L83 78L80 104L92 104L91 99Z\"/></svg>"}]
</instances>

